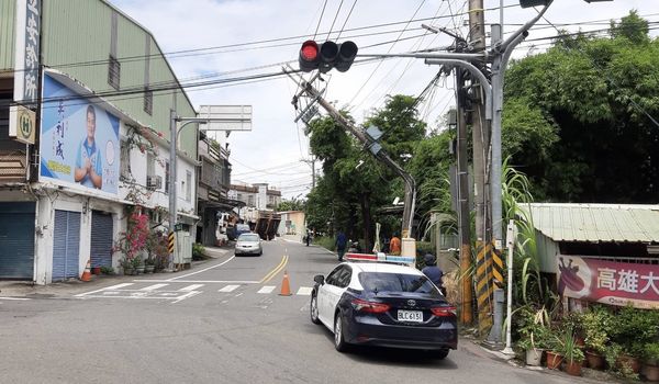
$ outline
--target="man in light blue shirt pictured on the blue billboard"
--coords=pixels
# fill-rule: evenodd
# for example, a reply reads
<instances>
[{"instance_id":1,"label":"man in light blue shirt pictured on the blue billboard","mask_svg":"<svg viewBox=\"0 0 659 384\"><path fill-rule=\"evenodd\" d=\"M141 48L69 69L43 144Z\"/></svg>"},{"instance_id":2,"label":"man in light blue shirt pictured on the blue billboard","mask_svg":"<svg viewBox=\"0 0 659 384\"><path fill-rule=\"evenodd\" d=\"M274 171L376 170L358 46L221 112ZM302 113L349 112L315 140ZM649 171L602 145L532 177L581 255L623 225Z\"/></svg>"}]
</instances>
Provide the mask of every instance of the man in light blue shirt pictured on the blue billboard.
<instances>
[{"instance_id":1,"label":"man in light blue shirt pictured on the blue billboard","mask_svg":"<svg viewBox=\"0 0 659 384\"><path fill-rule=\"evenodd\" d=\"M103 185L103 161L101 150L96 145L96 110L87 106L87 137L80 143L76 155L76 182L89 188L101 189Z\"/></svg>"}]
</instances>

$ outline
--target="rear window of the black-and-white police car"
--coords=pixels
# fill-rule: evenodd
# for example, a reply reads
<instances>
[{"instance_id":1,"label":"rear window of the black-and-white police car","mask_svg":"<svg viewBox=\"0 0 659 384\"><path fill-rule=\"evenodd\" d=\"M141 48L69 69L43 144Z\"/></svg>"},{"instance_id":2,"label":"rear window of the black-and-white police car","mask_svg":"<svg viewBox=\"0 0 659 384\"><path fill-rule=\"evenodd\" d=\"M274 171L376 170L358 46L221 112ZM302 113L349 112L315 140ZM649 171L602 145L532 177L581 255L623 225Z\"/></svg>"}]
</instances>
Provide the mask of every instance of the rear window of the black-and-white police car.
<instances>
[{"instance_id":1,"label":"rear window of the black-and-white police car","mask_svg":"<svg viewBox=\"0 0 659 384\"><path fill-rule=\"evenodd\" d=\"M386 272L361 272L359 282L368 292L414 292L438 295L439 291L424 275Z\"/></svg>"}]
</instances>

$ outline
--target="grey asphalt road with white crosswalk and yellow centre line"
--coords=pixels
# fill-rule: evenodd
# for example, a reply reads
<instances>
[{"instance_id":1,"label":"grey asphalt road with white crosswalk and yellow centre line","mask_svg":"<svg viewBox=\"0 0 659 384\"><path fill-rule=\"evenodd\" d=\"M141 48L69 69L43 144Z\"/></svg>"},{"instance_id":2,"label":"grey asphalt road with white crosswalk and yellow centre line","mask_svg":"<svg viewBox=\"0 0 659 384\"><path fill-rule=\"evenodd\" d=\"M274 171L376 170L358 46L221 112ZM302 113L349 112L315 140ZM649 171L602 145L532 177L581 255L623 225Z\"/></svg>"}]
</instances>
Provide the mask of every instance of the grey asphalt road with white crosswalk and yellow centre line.
<instances>
[{"instance_id":1,"label":"grey asphalt road with white crosswalk and yellow centre line","mask_svg":"<svg viewBox=\"0 0 659 384\"><path fill-rule=\"evenodd\" d=\"M0 382L574 382L468 342L444 361L406 350L338 353L332 334L309 320L313 275L336 263L324 249L279 239L265 242L263 257L227 252L178 273L0 297ZM284 271L291 296L279 295Z\"/></svg>"}]
</instances>

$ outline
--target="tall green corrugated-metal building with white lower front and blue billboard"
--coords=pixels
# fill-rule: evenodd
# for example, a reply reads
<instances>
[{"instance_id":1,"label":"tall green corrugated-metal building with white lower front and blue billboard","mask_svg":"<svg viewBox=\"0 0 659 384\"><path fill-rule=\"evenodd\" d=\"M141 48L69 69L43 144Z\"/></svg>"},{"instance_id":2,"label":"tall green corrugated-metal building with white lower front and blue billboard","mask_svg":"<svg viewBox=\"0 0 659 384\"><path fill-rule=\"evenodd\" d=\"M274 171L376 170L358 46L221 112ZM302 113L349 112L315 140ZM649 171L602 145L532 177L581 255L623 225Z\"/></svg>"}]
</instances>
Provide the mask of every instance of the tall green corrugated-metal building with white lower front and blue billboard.
<instances>
[{"instance_id":1,"label":"tall green corrugated-metal building with white lower front and blue billboard","mask_svg":"<svg viewBox=\"0 0 659 384\"><path fill-rule=\"evenodd\" d=\"M29 47L35 36L41 44ZM14 95L24 72L15 63L27 63L35 46L44 70L40 104ZM34 144L10 136L18 126L10 124L10 105L18 104L41 116ZM197 115L150 32L109 2L0 0L0 223L14 223L0 225L0 279L45 284L76 278L90 257L92 266L118 267L111 247L125 227L124 207L136 204L136 195L154 212L168 206L171 110ZM192 239L197 142L198 127L188 125L179 137L176 183L179 219ZM80 147L94 166L74 160Z\"/></svg>"}]
</instances>

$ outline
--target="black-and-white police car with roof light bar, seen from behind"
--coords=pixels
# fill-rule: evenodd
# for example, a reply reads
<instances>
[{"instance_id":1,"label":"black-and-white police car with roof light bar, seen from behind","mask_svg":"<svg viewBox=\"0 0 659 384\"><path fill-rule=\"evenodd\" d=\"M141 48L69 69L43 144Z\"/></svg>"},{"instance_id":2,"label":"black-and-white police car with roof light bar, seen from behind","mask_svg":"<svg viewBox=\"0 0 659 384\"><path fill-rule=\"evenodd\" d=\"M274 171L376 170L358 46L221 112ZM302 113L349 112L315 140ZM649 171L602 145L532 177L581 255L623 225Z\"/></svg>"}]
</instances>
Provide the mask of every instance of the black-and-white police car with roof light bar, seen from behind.
<instances>
[{"instance_id":1,"label":"black-and-white police car with roof light bar, seen from behind","mask_svg":"<svg viewBox=\"0 0 659 384\"><path fill-rule=\"evenodd\" d=\"M412 258L347 255L327 278L314 276L311 320L349 345L424 349L444 359L458 346L456 308Z\"/></svg>"}]
</instances>

